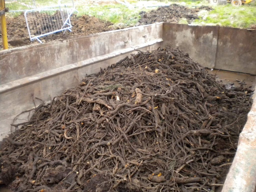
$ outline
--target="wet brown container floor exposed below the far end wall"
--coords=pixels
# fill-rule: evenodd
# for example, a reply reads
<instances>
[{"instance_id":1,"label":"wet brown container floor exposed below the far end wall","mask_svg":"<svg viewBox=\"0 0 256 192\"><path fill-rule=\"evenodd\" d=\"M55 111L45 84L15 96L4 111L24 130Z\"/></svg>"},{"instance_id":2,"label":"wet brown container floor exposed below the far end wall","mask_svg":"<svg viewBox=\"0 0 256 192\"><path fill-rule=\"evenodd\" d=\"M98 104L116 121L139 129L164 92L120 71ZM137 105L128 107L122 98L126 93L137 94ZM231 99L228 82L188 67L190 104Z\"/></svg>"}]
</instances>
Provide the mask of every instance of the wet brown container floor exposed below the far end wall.
<instances>
[{"instance_id":1,"label":"wet brown container floor exposed below the far end wall","mask_svg":"<svg viewBox=\"0 0 256 192\"><path fill-rule=\"evenodd\" d=\"M256 86L256 76L245 73L237 73L231 71L222 71L222 70L211 70L207 69L210 74L216 75L216 78L223 80L224 83L234 83L236 86L240 86L239 82L244 82L248 87L253 89ZM253 99L256 97L256 94L253 95ZM1 188L0 192L12 192L12 190L7 188Z\"/></svg>"}]
</instances>

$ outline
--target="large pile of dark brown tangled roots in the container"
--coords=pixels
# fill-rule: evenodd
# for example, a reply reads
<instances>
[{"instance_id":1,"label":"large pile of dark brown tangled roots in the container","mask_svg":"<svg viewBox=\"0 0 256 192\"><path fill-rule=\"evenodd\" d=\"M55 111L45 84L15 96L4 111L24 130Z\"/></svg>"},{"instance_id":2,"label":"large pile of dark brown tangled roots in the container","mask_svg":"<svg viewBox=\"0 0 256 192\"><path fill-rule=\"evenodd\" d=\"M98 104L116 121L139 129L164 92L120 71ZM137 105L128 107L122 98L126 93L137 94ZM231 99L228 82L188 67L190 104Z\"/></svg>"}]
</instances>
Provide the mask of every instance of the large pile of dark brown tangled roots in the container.
<instances>
[{"instance_id":1,"label":"large pile of dark brown tangled roots in the container","mask_svg":"<svg viewBox=\"0 0 256 192\"><path fill-rule=\"evenodd\" d=\"M138 51L13 125L21 131L1 146L0 184L36 192L215 191L251 94L217 81L179 49Z\"/></svg>"}]
</instances>

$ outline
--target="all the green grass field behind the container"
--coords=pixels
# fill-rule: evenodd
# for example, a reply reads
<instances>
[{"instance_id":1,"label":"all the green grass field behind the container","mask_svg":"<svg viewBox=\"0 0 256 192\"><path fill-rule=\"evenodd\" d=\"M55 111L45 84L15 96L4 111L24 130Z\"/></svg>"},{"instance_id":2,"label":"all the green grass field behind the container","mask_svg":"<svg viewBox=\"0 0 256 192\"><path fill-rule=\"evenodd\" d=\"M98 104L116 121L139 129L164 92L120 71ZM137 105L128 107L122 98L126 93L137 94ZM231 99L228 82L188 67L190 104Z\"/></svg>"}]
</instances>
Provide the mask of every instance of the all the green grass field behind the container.
<instances>
[{"instance_id":1,"label":"all the green grass field behind the container","mask_svg":"<svg viewBox=\"0 0 256 192\"><path fill-rule=\"evenodd\" d=\"M58 0L35 0L38 7L56 5ZM255 0L254 0L255 1ZM23 4L20 4L21 2ZM18 2L6 3L10 10L26 9L26 5L33 5L32 0L20 0ZM70 0L63 0L63 3L71 3ZM140 11L149 11L156 9L158 6L177 3L189 7L209 5L206 0L176 0L176 1L129 1L132 8L122 4L113 3L91 3L89 0L74 0L78 15L90 15L105 21L110 21L116 27L134 26L140 19ZM211 6L211 5L210 5ZM240 7L233 7L229 3L227 5L212 6L214 10L208 12L202 10L199 12L199 19L193 24L198 25L219 25L238 28L249 28L256 24L256 3L246 4ZM8 13L16 16L20 13ZM179 23L186 24L186 19L181 19Z\"/></svg>"}]
</instances>

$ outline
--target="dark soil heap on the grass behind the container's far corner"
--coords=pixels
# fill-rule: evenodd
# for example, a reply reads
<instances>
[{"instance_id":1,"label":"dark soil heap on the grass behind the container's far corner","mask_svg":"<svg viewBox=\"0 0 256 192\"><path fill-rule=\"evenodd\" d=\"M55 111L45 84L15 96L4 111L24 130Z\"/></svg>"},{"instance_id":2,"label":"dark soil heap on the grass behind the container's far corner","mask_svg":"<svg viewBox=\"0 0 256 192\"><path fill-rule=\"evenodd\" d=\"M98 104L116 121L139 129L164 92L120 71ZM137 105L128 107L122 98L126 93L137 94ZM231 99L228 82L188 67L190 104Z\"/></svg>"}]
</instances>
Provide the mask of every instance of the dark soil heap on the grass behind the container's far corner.
<instances>
[{"instance_id":1,"label":"dark soil heap on the grass behind the container's far corner","mask_svg":"<svg viewBox=\"0 0 256 192\"><path fill-rule=\"evenodd\" d=\"M141 19L138 21L138 25L148 25L158 22L178 23L182 18L186 18L188 23L191 23L191 21L198 18L197 13L202 9L211 10L212 8L208 6L189 8L177 4L162 6L150 12L140 12Z\"/></svg>"}]
</instances>

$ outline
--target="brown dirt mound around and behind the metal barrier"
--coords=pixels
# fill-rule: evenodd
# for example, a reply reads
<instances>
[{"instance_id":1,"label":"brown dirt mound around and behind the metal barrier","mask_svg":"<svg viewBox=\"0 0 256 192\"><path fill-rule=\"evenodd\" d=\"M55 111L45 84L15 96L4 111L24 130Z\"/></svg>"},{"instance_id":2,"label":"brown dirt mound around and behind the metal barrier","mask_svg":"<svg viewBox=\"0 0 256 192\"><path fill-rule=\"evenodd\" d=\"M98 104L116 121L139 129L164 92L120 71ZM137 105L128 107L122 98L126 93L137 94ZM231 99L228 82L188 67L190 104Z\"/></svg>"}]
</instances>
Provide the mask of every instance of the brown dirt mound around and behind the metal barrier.
<instances>
[{"instance_id":1,"label":"brown dirt mound around and behind the metal barrier","mask_svg":"<svg viewBox=\"0 0 256 192\"><path fill-rule=\"evenodd\" d=\"M56 41L56 40L62 41L64 39L69 39L73 37L87 36L94 33L112 30L112 27L111 27L112 23L103 22L98 18L90 17L88 15L83 15L80 17L77 17L76 15L72 15L70 20L73 26L72 32L66 31L65 34L63 34L63 32L59 32L57 34L54 34L54 35L52 34L47 37L42 37L40 39L43 42L50 42L50 41ZM8 43L10 47L19 47L23 45L38 43L37 40L34 40L33 42L30 41L28 36L28 30L26 27L25 17L23 14L15 18L8 17L6 19L6 24L7 24ZM56 24L52 24L52 25L56 25ZM38 27L38 26L35 26L35 27ZM39 26L39 27L43 28L44 26ZM0 48L2 48L2 41L0 42Z\"/></svg>"}]
</instances>

